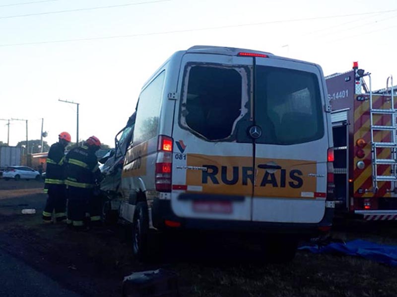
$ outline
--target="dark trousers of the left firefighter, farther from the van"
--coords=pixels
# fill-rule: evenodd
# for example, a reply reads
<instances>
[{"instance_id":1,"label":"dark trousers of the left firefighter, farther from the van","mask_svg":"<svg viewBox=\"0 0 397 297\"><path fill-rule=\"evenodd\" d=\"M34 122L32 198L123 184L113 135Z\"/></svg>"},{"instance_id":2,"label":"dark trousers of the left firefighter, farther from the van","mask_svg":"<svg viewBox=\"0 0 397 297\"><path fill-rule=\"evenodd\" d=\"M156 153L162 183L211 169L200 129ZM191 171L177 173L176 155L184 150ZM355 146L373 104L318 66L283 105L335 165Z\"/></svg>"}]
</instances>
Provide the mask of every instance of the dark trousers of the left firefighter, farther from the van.
<instances>
[{"instance_id":1,"label":"dark trousers of the left firefighter, farther from the van","mask_svg":"<svg viewBox=\"0 0 397 297\"><path fill-rule=\"evenodd\" d=\"M43 211L43 220L51 222L55 210L55 220L62 222L66 220L66 188L65 184L51 184L48 189L48 198Z\"/></svg>"}]
</instances>

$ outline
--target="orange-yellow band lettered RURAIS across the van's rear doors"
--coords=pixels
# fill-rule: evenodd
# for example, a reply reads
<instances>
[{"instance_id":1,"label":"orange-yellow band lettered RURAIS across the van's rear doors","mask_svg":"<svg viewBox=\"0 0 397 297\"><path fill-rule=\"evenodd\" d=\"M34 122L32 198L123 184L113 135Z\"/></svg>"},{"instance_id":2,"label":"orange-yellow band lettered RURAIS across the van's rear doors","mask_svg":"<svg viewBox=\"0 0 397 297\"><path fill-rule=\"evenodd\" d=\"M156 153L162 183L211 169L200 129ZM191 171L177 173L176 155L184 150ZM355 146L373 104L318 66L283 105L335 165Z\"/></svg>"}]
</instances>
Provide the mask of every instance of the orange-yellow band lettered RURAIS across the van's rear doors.
<instances>
[{"instance_id":1,"label":"orange-yellow band lettered RURAIS across the van's rear doors","mask_svg":"<svg viewBox=\"0 0 397 297\"><path fill-rule=\"evenodd\" d=\"M202 186L203 193L226 195L252 195L256 197L295 197L302 192L316 192L317 163L308 160L256 158L253 169L252 157L225 157L188 154L186 169L188 186Z\"/></svg>"}]
</instances>

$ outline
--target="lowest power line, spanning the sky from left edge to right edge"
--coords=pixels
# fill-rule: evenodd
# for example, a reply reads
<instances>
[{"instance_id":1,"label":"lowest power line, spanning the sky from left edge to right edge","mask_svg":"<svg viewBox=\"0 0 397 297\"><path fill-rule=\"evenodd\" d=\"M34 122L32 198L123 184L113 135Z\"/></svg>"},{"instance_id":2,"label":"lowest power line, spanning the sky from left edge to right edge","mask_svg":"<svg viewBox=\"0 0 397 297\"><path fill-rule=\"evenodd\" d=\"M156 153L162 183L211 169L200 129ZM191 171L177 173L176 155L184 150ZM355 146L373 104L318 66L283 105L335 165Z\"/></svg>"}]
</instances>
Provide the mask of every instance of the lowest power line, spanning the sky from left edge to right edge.
<instances>
[{"instance_id":1,"label":"lowest power line, spanning the sky from left edge to right edge","mask_svg":"<svg viewBox=\"0 0 397 297\"><path fill-rule=\"evenodd\" d=\"M164 0L162 0L162 1L164 1ZM169 0L166 0L166 1L169 1ZM146 2L146 3L148 3L148 2ZM77 42L77 41L94 41L94 40L106 40L106 39L118 39L118 38L132 38L132 37L150 36L150 35L166 35L166 34L186 33L186 32L195 32L195 31L228 29L228 28L238 28L238 27L247 27L247 26L259 26L259 25L276 24L276 23L288 23L288 22L309 21L309 20L317 20L317 19L329 19L329 18L347 17L347 16L355 16L355 15L379 14L379 13L388 13L388 12L394 12L394 11L397 11L397 9L375 11L375 12L364 12L364 13L352 13L352 14L342 14L342 15L331 15L331 16L300 18L300 19L298 18L298 19L290 19L290 20L267 21L267 22L261 22L261 23L226 25L226 26L216 26L216 27L197 28L197 29L185 29L185 30L150 32L150 33L137 33L137 34L129 34L129 35L116 35L116 36L91 37L91 38L76 38L76 39L38 41L38 42L26 42L26 43L14 43L14 44L0 44L0 47L40 45L40 44L65 43L65 42Z\"/></svg>"}]
</instances>

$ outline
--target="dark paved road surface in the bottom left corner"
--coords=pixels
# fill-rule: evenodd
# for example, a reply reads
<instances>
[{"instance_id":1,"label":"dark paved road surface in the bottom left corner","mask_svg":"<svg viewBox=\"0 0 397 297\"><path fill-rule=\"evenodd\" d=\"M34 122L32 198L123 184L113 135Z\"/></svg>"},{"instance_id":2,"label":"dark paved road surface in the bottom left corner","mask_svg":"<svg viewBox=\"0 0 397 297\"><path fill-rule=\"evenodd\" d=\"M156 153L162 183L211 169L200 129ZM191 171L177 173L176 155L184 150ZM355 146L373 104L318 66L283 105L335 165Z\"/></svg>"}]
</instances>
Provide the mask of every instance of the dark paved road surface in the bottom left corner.
<instances>
[{"instance_id":1,"label":"dark paved road surface in the bottom left corner","mask_svg":"<svg viewBox=\"0 0 397 297\"><path fill-rule=\"evenodd\" d=\"M0 296L79 297L0 249Z\"/></svg>"}]
</instances>

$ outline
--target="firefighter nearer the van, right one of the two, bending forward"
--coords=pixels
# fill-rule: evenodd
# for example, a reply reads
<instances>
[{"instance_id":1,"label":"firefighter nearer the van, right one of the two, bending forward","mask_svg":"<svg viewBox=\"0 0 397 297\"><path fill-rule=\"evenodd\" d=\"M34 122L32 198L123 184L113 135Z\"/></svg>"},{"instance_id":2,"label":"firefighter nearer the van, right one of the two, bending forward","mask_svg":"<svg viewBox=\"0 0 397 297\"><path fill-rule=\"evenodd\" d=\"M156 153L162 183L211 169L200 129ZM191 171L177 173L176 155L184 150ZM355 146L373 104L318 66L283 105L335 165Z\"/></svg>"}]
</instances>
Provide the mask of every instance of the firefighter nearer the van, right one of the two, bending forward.
<instances>
[{"instance_id":1,"label":"firefighter nearer the van, right one of the two, bending forward","mask_svg":"<svg viewBox=\"0 0 397 297\"><path fill-rule=\"evenodd\" d=\"M92 207L94 186L101 176L95 155L100 147L99 139L91 136L83 146L71 149L66 155L67 224L77 230L87 228L86 213L91 223L101 219L100 206L99 210Z\"/></svg>"}]
</instances>

